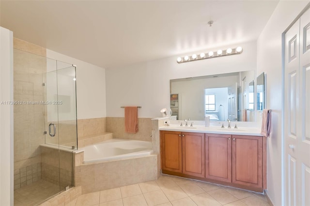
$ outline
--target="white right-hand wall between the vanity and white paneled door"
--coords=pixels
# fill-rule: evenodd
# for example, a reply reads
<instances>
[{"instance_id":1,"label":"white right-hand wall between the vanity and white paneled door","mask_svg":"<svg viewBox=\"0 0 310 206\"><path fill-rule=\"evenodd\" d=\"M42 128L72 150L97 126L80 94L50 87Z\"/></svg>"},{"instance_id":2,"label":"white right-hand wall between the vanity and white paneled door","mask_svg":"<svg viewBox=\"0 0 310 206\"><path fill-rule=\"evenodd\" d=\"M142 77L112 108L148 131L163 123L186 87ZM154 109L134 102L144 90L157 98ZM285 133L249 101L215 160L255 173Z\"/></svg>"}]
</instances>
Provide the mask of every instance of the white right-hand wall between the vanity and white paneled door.
<instances>
[{"instance_id":1,"label":"white right-hand wall between the vanity and white paneled door","mask_svg":"<svg viewBox=\"0 0 310 206\"><path fill-rule=\"evenodd\" d=\"M275 206L283 205L282 61L283 31L309 1L279 1L257 41L257 74L266 73L266 107L272 109L271 137L267 142L267 194Z\"/></svg>"}]
</instances>

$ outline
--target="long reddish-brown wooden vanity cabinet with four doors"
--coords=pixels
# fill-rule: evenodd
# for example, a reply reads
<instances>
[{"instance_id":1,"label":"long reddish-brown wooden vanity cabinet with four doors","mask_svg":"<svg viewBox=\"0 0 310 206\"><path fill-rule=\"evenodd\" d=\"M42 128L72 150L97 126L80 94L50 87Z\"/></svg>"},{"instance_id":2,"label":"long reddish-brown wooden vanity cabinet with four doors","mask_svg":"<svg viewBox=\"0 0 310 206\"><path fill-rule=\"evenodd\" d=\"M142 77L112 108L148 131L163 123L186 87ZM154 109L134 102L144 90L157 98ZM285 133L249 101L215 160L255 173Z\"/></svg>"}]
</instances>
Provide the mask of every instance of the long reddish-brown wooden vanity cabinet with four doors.
<instances>
[{"instance_id":1,"label":"long reddish-brown wooden vanity cabinet with four doors","mask_svg":"<svg viewBox=\"0 0 310 206\"><path fill-rule=\"evenodd\" d=\"M266 137L161 131L162 173L262 192Z\"/></svg>"}]
</instances>

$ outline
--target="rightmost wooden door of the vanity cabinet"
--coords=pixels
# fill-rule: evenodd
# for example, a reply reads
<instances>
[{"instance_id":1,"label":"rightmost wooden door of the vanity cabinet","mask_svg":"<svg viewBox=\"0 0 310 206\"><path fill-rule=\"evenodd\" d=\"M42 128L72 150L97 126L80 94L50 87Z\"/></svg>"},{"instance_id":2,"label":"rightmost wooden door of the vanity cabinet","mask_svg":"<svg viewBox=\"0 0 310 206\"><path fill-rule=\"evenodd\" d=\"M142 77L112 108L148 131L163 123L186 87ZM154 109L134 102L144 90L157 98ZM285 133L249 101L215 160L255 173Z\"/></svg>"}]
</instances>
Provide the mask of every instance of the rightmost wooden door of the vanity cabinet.
<instances>
[{"instance_id":1,"label":"rightmost wooden door of the vanity cabinet","mask_svg":"<svg viewBox=\"0 0 310 206\"><path fill-rule=\"evenodd\" d=\"M263 138L232 135L233 183L263 188Z\"/></svg>"}]
</instances>

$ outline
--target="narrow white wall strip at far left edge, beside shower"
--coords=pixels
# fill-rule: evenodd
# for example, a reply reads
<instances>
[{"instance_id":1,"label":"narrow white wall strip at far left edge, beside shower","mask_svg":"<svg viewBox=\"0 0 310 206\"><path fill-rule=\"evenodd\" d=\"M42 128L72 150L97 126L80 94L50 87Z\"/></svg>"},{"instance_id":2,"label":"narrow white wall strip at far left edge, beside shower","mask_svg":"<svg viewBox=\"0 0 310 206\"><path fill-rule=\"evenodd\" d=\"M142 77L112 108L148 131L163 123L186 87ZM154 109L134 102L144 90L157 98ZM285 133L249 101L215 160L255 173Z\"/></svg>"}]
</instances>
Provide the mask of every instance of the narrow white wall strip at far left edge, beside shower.
<instances>
[{"instance_id":1,"label":"narrow white wall strip at far left edge, beside shower","mask_svg":"<svg viewBox=\"0 0 310 206\"><path fill-rule=\"evenodd\" d=\"M0 102L13 101L13 32L0 27ZM0 205L13 206L13 104L0 104Z\"/></svg>"}]
</instances>

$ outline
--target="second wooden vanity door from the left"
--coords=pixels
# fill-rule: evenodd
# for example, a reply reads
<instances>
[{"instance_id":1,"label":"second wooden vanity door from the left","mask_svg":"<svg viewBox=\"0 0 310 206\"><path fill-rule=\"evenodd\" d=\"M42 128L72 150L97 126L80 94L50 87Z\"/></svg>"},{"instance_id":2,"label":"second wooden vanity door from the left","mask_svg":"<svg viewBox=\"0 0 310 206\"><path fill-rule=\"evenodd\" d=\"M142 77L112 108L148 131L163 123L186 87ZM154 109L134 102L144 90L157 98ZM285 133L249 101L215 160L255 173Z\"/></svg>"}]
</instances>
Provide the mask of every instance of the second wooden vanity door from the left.
<instances>
[{"instance_id":1,"label":"second wooden vanity door from the left","mask_svg":"<svg viewBox=\"0 0 310 206\"><path fill-rule=\"evenodd\" d=\"M204 133L183 132L183 174L204 177Z\"/></svg>"}]
</instances>

